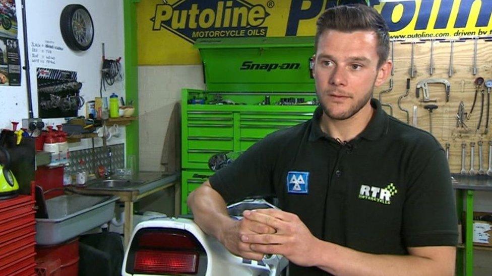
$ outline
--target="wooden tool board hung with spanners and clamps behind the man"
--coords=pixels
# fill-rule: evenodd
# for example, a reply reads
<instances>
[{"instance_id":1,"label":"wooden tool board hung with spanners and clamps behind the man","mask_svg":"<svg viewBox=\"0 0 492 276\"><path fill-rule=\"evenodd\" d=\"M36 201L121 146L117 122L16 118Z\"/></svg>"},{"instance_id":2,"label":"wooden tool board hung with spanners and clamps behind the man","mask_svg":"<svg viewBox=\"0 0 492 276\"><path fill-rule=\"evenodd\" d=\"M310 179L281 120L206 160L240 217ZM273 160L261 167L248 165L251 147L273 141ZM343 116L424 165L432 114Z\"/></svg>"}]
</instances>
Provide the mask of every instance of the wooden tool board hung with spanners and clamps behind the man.
<instances>
[{"instance_id":1,"label":"wooden tool board hung with spanners and clamps behind the man","mask_svg":"<svg viewBox=\"0 0 492 276\"><path fill-rule=\"evenodd\" d=\"M453 38L457 40L459 38ZM449 41L449 39L448 39ZM407 40L405 42L411 42ZM393 116L403 122L407 121L406 114L398 108L398 98L405 94L406 79L410 78L410 65L412 45L402 42L394 42L394 75L390 76L393 79L393 89L388 93L381 95L383 104L390 104L393 109ZM478 141L482 141L482 166L486 171L488 168L488 142L492 140L492 106L490 107L488 133L485 133L485 120L487 109L487 88L482 85L478 91L477 100L473 113L464 123L468 130L456 127L458 107L461 101L464 102L465 112L469 113L472 107L475 96L474 80L477 77L483 77L485 80L492 79L492 41L486 39L477 40L476 54L476 75L473 75L473 60L475 42L473 39L465 40L464 42L455 42L453 51L453 75L449 77L450 53L451 44L440 41L434 42L433 59L434 72L430 75L430 48L431 42L424 41L423 43L414 44L414 77L410 79L409 95L401 100L402 108L409 111L409 124L413 125L413 107L416 106L416 127L429 131L429 112L423 108L427 104L435 104L438 106L432 113L433 135L439 140L443 147L449 143L449 165L451 172L459 173L461 170L462 159L462 143L466 144L465 152L465 169L470 170L471 149L470 143L475 143L474 148L474 169L478 170ZM391 58L391 57L390 57ZM379 98L381 90L389 87L389 81L375 89L374 98ZM445 85L429 84L430 99L435 99L436 102L422 103L422 90L420 97L416 98L416 84L418 81L426 78L444 78L447 79L450 86L449 102L446 102ZM477 130L477 124L480 117L481 108L481 93L484 89L484 107L481 127ZM492 102L492 99L490 99ZM389 107L383 109L390 114Z\"/></svg>"}]
</instances>

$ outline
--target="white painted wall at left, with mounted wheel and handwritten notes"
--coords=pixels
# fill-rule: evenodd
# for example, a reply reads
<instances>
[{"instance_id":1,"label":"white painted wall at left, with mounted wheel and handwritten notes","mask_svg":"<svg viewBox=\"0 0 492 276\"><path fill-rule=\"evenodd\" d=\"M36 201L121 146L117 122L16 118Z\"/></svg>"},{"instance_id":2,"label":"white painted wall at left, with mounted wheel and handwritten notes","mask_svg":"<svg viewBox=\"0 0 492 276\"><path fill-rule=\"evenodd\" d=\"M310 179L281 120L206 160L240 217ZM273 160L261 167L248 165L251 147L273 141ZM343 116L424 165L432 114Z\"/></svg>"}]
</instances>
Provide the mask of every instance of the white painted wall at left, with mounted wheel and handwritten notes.
<instances>
[{"instance_id":1,"label":"white painted wall at left, with mounted wheel and handwritten notes","mask_svg":"<svg viewBox=\"0 0 492 276\"><path fill-rule=\"evenodd\" d=\"M81 4L91 14L94 22L94 41L87 51L75 52L63 41L60 33L59 20L61 11L69 4ZM19 22L18 39L21 46L21 64L24 65L24 37L22 29L21 1L16 0L17 19ZM33 55L32 43L45 44L52 41L53 45L63 47L63 50L52 50L55 57L55 65L30 63L32 106L34 117L38 115L36 68L46 67L77 71L78 81L83 83L80 95L86 100L99 97L100 69L102 66L102 43L105 43L106 58L115 59L124 55L124 23L123 2L120 0L43 0L26 1L26 24L29 42L29 58ZM121 61L124 70L125 59ZM103 97L109 97L111 93L125 96L124 82L116 82L107 91L103 90ZM23 70L21 86L0 86L0 128L10 127L10 122L22 121L28 118L26 75ZM85 106L79 110L79 116L85 116ZM45 119L47 124L56 125L65 122L60 119ZM95 139L96 146L102 145L101 139ZM122 135L108 141L109 144L125 141L125 131ZM90 139L83 139L80 143L70 144L70 150L78 150L92 146Z\"/></svg>"}]
</instances>

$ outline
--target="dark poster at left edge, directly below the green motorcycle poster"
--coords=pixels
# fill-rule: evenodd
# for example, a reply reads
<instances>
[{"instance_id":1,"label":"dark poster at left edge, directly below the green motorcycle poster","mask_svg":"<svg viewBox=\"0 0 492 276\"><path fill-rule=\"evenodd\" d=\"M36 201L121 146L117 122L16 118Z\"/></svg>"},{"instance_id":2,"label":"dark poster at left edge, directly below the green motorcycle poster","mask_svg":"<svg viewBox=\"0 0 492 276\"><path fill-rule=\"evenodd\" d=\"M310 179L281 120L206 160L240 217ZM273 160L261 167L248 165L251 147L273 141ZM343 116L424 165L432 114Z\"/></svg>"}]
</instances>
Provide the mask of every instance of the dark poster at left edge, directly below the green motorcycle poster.
<instances>
[{"instance_id":1,"label":"dark poster at left edge, directly below the green motorcycle poster","mask_svg":"<svg viewBox=\"0 0 492 276\"><path fill-rule=\"evenodd\" d=\"M19 41L0 37L0 85L21 85Z\"/></svg>"}]
</instances>

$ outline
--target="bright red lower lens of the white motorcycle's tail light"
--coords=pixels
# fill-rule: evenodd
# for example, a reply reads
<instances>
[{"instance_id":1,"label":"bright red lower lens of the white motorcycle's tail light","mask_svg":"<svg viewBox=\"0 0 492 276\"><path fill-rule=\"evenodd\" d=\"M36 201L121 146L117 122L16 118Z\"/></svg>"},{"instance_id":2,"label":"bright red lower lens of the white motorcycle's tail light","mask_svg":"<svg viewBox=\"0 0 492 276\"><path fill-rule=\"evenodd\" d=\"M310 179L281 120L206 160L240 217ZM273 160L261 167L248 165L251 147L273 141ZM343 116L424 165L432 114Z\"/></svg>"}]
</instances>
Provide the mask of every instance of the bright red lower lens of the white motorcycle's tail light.
<instances>
[{"instance_id":1,"label":"bright red lower lens of the white motorcycle's tail light","mask_svg":"<svg viewBox=\"0 0 492 276\"><path fill-rule=\"evenodd\" d=\"M195 274L198 260L198 252L139 250L134 269L138 272Z\"/></svg>"}]
</instances>

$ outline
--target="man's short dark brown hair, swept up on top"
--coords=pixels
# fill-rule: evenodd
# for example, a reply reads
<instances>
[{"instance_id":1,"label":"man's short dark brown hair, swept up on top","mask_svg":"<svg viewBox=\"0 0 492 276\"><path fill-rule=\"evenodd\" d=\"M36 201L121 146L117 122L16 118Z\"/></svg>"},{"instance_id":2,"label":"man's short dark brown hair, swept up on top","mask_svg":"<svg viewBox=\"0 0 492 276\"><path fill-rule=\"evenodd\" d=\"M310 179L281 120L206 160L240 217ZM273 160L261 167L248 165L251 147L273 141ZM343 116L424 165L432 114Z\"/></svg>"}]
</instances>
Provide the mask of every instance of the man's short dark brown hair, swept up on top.
<instances>
[{"instance_id":1,"label":"man's short dark brown hair, swept up on top","mask_svg":"<svg viewBox=\"0 0 492 276\"><path fill-rule=\"evenodd\" d=\"M315 50L321 34L326 30L339 32L374 31L378 38L378 68L388 59L390 35L388 26L378 12L365 5L346 5L327 9L316 23Z\"/></svg>"}]
</instances>

